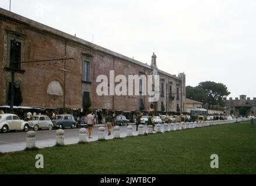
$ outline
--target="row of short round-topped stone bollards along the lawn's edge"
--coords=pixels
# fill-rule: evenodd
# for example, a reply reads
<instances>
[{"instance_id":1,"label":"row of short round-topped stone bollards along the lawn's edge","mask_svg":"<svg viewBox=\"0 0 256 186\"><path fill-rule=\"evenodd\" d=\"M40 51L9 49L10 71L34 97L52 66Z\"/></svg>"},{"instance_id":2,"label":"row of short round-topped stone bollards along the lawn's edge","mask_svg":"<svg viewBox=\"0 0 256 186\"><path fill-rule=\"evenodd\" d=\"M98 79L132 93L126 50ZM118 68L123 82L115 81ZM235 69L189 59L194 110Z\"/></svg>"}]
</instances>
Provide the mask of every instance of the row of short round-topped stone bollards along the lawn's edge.
<instances>
[{"instance_id":1,"label":"row of short round-topped stone bollards along the lawn's edge","mask_svg":"<svg viewBox=\"0 0 256 186\"><path fill-rule=\"evenodd\" d=\"M222 120L222 121L202 121L202 122L181 122L181 123L164 123L163 133L168 131L176 131L176 130L185 130L187 128L197 128L197 127L207 127L207 126L215 126L219 124L227 124L234 123L234 120ZM132 137L132 125L127 126L127 137ZM105 128L99 127L99 140L105 139ZM143 125L140 124L138 126L138 135L144 135L146 131L143 130ZM162 133L161 124L156 125L156 133ZM148 126L148 134L153 134L153 126ZM114 127L114 138L120 138L120 127ZM87 130L85 128L80 128L79 130L79 142L88 142ZM56 131L56 145L64 145L64 130L59 129ZM36 132L28 131L27 139L26 139L26 148L35 148L36 147Z\"/></svg>"}]
</instances>

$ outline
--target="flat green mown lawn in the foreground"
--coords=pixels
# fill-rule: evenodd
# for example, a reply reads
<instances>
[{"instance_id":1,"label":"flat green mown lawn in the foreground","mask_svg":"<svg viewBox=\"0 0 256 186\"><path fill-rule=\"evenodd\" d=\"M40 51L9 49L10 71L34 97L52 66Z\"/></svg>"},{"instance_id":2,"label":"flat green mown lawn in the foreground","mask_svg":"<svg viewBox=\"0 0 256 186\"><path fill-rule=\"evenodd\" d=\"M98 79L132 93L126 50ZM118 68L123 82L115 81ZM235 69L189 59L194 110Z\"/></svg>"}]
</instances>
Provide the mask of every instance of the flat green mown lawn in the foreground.
<instances>
[{"instance_id":1,"label":"flat green mown lawn in the foreground","mask_svg":"<svg viewBox=\"0 0 256 186\"><path fill-rule=\"evenodd\" d=\"M44 156L36 169L35 156ZM219 169L210 156L218 154ZM0 153L0 174L256 174L248 121L121 140Z\"/></svg>"}]
</instances>

